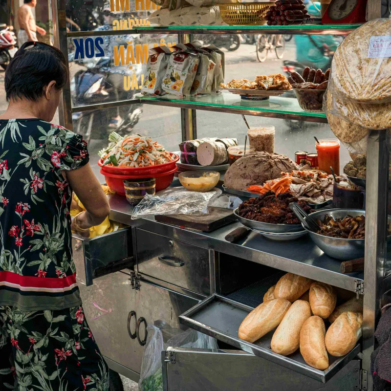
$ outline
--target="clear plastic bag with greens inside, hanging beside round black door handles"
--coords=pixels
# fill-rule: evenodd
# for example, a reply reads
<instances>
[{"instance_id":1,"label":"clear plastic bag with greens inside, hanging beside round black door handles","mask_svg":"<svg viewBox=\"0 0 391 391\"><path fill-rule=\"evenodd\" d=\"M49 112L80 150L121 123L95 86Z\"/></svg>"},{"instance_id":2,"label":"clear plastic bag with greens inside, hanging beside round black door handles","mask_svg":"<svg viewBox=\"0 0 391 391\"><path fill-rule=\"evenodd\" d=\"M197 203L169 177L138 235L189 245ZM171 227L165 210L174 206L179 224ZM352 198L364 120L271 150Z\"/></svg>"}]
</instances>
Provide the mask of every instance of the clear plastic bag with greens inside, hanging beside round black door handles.
<instances>
[{"instance_id":1,"label":"clear plastic bag with greens inside, hanging beside round black door handles","mask_svg":"<svg viewBox=\"0 0 391 391\"><path fill-rule=\"evenodd\" d=\"M147 343L141 364L139 391L163 391L161 352L164 350L163 335L159 328L147 327Z\"/></svg>"}]
</instances>

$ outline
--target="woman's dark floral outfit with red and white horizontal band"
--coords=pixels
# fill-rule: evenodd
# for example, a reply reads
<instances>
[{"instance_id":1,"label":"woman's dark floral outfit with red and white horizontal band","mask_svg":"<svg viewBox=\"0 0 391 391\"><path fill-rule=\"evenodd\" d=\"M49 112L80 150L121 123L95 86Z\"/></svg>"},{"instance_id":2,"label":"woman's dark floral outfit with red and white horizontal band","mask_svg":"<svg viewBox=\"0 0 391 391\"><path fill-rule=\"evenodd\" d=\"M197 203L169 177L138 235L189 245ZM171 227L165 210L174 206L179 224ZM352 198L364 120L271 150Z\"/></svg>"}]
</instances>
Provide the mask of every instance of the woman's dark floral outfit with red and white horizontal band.
<instances>
[{"instance_id":1,"label":"woman's dark floral outfit with red and white horizontal band","mask_svg":"<svg viewBox=\"0 0 391 391\"><path fill-rule=\"evenodd\" d=\"M84 316L62 171L87 143L39 119L0 120L0 390L109 389Z\"/></svg>"}]
</instances>

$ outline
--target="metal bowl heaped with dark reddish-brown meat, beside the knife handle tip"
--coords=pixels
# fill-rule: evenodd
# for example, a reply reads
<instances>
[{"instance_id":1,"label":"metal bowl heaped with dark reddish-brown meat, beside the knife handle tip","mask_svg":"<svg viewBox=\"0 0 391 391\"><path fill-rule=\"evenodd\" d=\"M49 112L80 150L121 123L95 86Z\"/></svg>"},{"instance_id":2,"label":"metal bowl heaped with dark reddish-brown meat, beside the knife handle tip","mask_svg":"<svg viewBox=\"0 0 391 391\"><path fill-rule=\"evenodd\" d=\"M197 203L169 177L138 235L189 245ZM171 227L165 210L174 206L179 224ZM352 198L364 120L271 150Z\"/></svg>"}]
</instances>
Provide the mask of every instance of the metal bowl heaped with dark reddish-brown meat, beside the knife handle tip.
<instances>
[{"instance_id":1,"label":"metal bowl heaped with dark reddish-brown meat, beside the knife handle tip","mask_svg":"<svg viewBox=\"0 0 391 391\"><path fill-rule=\"evenodd\" d=\"M303 231L299 219L289 208L289 203L297 202L306 213L313 212L305 201L299 201L289 193L275 195L267 192L258 198L243 201L234 214L244 226L255 231L287 233Z\"/></svg>"}]
</instances>

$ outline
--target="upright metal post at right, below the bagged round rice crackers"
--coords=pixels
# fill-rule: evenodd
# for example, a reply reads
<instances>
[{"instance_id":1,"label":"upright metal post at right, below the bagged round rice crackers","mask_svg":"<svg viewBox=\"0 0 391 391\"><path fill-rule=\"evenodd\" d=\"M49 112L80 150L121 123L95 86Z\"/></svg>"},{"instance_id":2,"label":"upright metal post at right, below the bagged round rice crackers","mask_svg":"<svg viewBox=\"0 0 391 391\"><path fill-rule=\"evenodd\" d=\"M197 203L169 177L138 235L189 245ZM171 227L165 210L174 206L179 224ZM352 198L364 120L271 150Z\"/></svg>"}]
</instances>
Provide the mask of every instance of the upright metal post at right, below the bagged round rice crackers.
<instances>
[{"instance_id":1,"label":"upright metal post at right, below the bagged round rice crackers","mask_svg":"<svg viewBox=\"0 0 391 391\"><path fill-rule=\"evenodd\" d=\"M367 375L368 382L367 388L364 388L365 384L363 384L363 390L373 390L370 354L375 344L374 332L384 293L383 279L387 253L388 141L388 131L372 130L367 147L363 375Z\"/></svg>"}]
</instances>

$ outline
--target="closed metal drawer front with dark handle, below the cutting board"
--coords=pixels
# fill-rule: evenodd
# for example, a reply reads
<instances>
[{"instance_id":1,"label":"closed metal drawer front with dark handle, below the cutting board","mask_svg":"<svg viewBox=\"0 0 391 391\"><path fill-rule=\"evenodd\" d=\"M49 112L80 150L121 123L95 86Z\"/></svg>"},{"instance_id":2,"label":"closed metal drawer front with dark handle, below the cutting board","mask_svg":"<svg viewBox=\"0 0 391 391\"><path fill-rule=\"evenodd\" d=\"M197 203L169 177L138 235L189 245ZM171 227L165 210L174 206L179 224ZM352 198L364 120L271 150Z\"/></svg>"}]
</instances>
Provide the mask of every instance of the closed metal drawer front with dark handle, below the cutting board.
<instances>
[{"instance_id":1,"label":"closed metal drawer front with dark handle, below the cutting board","mask_svg":"<svg viewBox=\"0 0 391 391\"><path fill-rule=\"evenodd\" d=\"M140 273L205 296L210 295L209 251L136 229Z\"/></svg>"}]
</instances>

